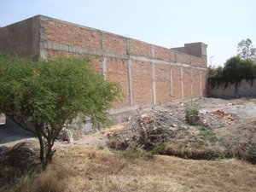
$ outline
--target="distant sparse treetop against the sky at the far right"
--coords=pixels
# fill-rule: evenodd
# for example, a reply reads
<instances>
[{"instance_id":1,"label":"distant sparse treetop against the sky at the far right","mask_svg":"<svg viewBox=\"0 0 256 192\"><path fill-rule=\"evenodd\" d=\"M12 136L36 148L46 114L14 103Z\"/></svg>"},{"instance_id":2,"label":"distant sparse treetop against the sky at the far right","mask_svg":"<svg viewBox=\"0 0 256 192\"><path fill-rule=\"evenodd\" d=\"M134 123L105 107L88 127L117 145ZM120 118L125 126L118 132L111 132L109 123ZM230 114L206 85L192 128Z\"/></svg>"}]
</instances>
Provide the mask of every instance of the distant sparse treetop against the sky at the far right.
<instances>
[{"instance_id":1,"label":"distant sparse treetop against the sky at the far right","mask_svg":"<svg viewBox=\"0 0 256 192\"><path fill-rule=\"evenodd\" d=\"M253 42L250 38L241 40L237 45L237 53L243 60L256 61L256 48L253 48Z\"/></svg>"}]
</instances>

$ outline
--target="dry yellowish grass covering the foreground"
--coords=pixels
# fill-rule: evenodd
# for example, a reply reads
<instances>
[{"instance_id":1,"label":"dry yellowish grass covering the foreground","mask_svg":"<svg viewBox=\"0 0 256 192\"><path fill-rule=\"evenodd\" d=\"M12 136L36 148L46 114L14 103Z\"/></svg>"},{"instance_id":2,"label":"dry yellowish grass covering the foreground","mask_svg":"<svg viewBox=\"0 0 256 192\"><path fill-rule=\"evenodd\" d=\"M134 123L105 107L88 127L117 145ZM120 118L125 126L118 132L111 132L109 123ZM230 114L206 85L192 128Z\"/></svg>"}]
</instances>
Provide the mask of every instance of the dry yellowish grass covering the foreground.
<instances>
[{"instance_id":1,"label":"dry yellowish grass covering the foreground","mask_svg":"<svg viewBox=\"0 0 256 192\"><path fill-rule=\"evenodd\" d=\"M239 160L125 159L94 148L58 148L46 172L24 176L11 192L255 191L256 166ZM5 191L7 192L7 191Z\"/></svg>"}]
</instances>

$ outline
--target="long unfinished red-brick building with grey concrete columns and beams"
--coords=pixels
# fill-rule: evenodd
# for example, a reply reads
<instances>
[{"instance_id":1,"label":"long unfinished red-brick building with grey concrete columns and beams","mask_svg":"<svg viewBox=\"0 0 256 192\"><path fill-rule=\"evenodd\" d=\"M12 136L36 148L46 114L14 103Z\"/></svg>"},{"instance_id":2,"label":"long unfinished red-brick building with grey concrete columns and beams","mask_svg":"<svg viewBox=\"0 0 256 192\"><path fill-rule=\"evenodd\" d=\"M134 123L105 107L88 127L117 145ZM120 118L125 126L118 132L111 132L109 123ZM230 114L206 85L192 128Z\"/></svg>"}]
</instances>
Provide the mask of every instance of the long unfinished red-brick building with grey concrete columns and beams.
<instances>
[{"instance_id":1,"label":"long unfinished red-brick building with grey concrete columns and beams","mask_svg":"<svg viewBox=\"0 0 256 192\"><path fill-rule=\"evenodd\" d=\"M20 27L26 28L32 34L32 42L19 42L23 47L29 47L26 54L11 39L0 46L0 51L9 47L20 55L36 52L43 58L94 55L96 71L122 86L123 102L114 102L111 113L125 113L191 96L205 96L206 44L185 44L183 48L167 49L43 15L0 30L9 34L12 27L16 27L12 34L19 33L20 37L26 36L20 33ZM1 36L2 33L0 39L5 41Z\"/></svg>"}]
</instances>

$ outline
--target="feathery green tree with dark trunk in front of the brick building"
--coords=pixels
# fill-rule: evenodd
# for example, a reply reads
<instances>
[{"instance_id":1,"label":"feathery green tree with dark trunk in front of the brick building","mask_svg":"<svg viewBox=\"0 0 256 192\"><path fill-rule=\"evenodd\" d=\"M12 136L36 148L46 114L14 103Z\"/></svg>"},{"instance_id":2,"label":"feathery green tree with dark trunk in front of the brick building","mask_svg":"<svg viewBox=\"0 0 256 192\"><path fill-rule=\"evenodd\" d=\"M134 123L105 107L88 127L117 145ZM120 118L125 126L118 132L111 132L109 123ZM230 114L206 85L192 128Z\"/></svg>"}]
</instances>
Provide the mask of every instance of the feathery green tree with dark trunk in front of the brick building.
<instances>
[{"instance_id":1,"label":"feathery green tree with dark trunk in front of the brick building","mask_svg":"<svg viewBox=\"0 0 256 192\"><path fill-rule=\"evenodd\" d=\"M108 122L119 84L91 66L88 58L32 61L0 55L0 111L38 137L43 169L52 160L55 138L73 119Z\"/></svg>"}]
</instances>

